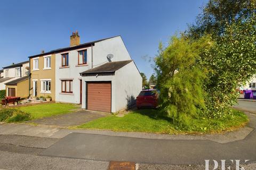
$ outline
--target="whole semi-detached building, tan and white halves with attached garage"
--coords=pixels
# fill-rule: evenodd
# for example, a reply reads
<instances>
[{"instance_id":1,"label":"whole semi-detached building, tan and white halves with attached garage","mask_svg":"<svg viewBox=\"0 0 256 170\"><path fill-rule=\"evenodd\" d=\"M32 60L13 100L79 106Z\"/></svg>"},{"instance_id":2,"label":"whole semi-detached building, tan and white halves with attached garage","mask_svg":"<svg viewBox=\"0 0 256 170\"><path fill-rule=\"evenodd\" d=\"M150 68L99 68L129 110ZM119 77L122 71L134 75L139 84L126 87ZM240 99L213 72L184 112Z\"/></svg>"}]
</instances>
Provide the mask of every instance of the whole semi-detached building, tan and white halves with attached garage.
<instances>
[{"instance_id":1,"label":"whole semi-detached building, tan and white halves with attached garage","mask_svg":"<svg viewBox=\"0 0 256 170\"><path fill-rule=\"evenodd\" d=\"M29 57L30 95L82 104L82 108L117 112L134 103L142 78L121 36L70 46Z\"/></svg>"}]
</instances>

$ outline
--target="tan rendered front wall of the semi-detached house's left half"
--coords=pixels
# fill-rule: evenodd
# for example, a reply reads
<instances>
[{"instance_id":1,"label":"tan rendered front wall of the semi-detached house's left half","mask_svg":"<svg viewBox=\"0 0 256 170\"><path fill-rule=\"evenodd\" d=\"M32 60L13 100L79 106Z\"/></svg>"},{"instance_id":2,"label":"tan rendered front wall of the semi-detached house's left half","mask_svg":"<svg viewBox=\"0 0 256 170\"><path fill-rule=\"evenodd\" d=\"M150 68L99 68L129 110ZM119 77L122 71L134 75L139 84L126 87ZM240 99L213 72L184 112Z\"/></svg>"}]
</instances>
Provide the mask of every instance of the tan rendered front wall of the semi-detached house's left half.
<instances>
[{"instance_id":1,"label":"tan rendered front wall of the semi-detached house's left half","mask_svg":"<svg viewBox=\"0 0 256 170\"><path fill-rule=\"evenodd\" d=\"M49 56L49 55L47 55ZM38 58L38 69L33 71L33 58L29 58L30 60L30 96L33 97L33 80L37 80L37 97L40 96L51 96L52 100L55 100L55 54L51 55L51 69L44 70L44 55ZM51 94L41 93L41 79L51 79Z\"/></svg>"}]
</instances>

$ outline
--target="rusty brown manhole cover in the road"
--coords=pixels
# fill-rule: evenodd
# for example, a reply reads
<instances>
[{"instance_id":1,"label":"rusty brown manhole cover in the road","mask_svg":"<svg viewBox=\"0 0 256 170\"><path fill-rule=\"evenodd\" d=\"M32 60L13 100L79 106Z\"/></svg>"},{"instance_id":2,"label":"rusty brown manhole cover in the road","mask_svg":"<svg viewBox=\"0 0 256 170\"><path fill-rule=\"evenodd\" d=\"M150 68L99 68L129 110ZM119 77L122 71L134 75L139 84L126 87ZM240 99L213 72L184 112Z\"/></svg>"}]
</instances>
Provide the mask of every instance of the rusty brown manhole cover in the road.
<instances>
[{"instance_id":1,"label":"rusty brown manhole cover in the road","mask_svg":"<svg viewBox=\"0 0 256 170\"><path fill-rule=\"evenodd\" d=\"M135 163L111 161L108 170L135 170Z\"/></svg>"}]
</instances>

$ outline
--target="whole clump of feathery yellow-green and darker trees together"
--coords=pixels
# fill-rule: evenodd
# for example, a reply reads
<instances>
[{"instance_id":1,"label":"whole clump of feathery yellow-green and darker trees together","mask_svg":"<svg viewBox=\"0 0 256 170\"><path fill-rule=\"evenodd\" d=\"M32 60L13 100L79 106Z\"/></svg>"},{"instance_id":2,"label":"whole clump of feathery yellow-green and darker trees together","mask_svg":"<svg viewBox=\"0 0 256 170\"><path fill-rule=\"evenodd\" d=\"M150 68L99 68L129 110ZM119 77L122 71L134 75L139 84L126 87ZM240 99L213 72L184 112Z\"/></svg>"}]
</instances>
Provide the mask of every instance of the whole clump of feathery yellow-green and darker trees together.
<instances>
[{"instance_id":1,"label":"whole clump of feathery yellow-green and darker trees together","mask_svg":"<svg viewBox=\"0 0 256 170\"><path fill-rule=\"evenodd\" d=\"M210 0L181 37L155 58L161 109L174 123L221 118L256 73L255 0ZM178 72L177 72L178 71Z\"/></svg>"}]
</instances>

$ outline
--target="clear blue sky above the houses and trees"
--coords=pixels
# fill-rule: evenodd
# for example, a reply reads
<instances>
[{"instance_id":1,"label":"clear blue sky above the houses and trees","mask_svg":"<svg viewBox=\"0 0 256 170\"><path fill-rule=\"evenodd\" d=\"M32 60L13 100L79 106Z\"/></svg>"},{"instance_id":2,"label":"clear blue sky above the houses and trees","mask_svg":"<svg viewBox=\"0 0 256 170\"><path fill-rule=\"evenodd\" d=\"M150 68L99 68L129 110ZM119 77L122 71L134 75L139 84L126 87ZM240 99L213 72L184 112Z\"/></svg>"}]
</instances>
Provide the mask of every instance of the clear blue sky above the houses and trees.
<instances>
[{"instance_id":1,"label":"clear blue sky above the houses and trees","mask_svg":"<svg viewBox=\"0 0 256 170\"><path fill-rule=\"evenodd\" d=\"M78 30L81 43L121 35L148 79L160 41L187 28L207 0L0 1L0 67L30 55L69 46Z\"/></svg>"}]
</instances>

